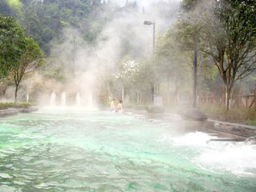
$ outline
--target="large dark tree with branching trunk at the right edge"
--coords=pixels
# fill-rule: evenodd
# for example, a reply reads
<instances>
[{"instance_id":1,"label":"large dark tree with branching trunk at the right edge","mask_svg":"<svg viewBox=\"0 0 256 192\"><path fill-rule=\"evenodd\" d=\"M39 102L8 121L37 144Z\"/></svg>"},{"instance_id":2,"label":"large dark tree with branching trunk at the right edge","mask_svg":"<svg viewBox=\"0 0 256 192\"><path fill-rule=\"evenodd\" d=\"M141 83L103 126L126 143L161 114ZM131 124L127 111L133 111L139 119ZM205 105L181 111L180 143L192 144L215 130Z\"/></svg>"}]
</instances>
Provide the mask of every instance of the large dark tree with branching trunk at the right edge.
<instances>
[{"instance_id":1,"label":"large dark tree with branching trunk at the right edge","mask_svg":"<svg viewBox=\"0 0 256 192\"><path fill-rule=\"evenodd\" d=\"M229 110L234 83L256 70L256 1L202 2L194 10L196 13L199 9L204 10L202 16L190 11L190 17L186 17L188 12L181 17L180 21L186 23L183 34L187 36L188 31L196 31L194 34L197 34L199 49L212 58L218 67L226 87L226 110ZM191 34L190 39L193 39Z\"/></svg>"}]
</instances>

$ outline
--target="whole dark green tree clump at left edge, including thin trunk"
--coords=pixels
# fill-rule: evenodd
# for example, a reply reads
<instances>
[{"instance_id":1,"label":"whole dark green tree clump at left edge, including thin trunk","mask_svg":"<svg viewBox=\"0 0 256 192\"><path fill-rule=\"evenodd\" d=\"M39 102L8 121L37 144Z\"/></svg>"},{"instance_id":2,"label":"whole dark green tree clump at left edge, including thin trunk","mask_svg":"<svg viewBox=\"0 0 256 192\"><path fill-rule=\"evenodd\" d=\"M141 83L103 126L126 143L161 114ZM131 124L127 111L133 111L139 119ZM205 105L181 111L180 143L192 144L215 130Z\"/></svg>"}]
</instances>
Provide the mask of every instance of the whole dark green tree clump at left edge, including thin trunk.
<instances>
[{"instance_id":1,"label":"whole dark green tree clump at left edge, including thin trunk","mask_svg":"<svg viewBox=\"0 0 256 192\"><path fill-rule=\"evenodd\" d=\"M27 38L22 26L10 17L0 16L0 78L13 79L15 102L24 75L42 66L43 53L33 38Z\"/></svg>"}]
</instances>

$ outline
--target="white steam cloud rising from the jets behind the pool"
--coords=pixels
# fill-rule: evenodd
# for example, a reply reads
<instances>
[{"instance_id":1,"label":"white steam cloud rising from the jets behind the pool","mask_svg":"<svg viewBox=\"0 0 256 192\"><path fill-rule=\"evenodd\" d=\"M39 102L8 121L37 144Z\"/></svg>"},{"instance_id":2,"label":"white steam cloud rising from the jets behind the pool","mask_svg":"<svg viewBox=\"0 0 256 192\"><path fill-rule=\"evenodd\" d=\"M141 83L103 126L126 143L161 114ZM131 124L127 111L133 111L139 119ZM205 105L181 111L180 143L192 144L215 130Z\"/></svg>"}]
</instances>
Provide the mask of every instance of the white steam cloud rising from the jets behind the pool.
<instances>
[{"instance_id":1,"label":"white steam cloud rising from the jets behind the pool","mask_svg":"<svg viewBox=\"0 0 256 192\"><path fill-rule=\"evenodd\" d=\"M155 2L159 3L150 6ZM63 30L61 37L51 42L51 54L48 60L51 67L64 74L64 80L56 82L47 79L48 82L44 85L47 91L42 103L50 102L50 94L53 90L56 93L57 105L63 103L63 93L66 95L67 106L75 105L78 93L82 107L92 106L92 101L96 103L102 87L106 89L104 84L106 75L116 72L118 62L123 56L129 55L136 60L152 53L153 28L143 25L143 22L145 20L156 22L157 34L165 32L173 25L178 13L179 1L167 2L138 1L139 6L147 6L145 13L141 13L136 8L118 10L114 16L113 10L98 13L108 15L111 19L104 23L102 32L98 34L94 43L84 40L82 29L97 23L97 20L92 20L91 23L79 23L80 29Z\"/></svg>"}]
</instances>

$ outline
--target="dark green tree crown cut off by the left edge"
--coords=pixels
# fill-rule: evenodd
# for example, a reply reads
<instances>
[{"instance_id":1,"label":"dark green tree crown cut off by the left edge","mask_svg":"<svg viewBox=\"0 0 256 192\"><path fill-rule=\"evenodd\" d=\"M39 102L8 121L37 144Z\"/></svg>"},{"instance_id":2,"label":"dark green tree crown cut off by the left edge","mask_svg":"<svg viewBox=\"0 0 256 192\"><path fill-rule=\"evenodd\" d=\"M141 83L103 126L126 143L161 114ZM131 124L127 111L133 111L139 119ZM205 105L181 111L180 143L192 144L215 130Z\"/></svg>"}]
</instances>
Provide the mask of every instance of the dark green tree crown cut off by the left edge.
<instances>
[{"instance_id":1,"label":"dark green tree crown cut off by the left edge","mask_svg":"<svg viewBox=\"0 0 256 192\"><path fill-rule=\"evenodd\" d=\"M10 17L0 16L0 78L6 77L25 48L25 30Z\"/></svg>"}]
</instances>

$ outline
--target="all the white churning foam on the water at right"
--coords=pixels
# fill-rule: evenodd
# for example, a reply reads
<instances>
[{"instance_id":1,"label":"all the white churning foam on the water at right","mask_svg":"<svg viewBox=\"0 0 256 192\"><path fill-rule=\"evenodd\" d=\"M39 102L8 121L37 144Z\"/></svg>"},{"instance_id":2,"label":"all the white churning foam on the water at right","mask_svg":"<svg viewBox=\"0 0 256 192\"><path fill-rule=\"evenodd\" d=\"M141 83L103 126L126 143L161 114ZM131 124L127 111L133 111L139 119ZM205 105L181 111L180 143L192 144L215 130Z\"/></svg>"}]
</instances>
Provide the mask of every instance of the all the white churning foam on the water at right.
<instances>
[{"instance_id":1,"label":"all the white churning foam on the water at right","mask_svg":"<svg viewBox=\"0 0 256 192\"><path fill-rule=\"evenodd\" d=\"M210 142L216 136L193 132L183 136L162 135L161 142L174 146L186 146L197 151L191 161L218 173L230 172L242 177L256 178L256 145L250 142Z\"/></svg>"}]
</instances>

